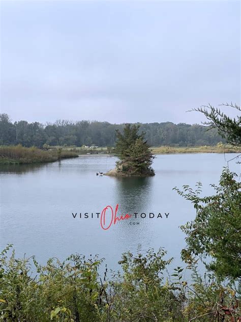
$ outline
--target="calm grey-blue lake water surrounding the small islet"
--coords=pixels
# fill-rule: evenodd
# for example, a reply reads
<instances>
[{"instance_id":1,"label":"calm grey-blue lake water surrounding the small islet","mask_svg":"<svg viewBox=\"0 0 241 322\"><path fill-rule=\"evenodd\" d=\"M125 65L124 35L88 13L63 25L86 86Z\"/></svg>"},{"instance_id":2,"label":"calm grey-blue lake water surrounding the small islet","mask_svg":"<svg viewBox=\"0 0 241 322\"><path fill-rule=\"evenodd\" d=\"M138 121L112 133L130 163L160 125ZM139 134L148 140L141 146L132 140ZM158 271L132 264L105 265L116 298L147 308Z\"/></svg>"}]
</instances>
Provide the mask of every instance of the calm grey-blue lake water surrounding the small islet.
<instances>
[{"instance_id":1,"label":"calm grey-blue lake water surrounding the small islet","mask_svg":"<svg viewBox=\"0 0 241 322\"><path fill-rule=\"evenodd\" d=\"M226 154L226 159L235 155ZM143 250L164 247L167 257L175 258L172 267L180 264L185 235L178 227L194 219L195 210L172 188L201 181L203 194L212 194L209 184L218 183L227 165L224 154L158 155L156 175L149 178L96 176L115 161L114 156L85 155L38 166L1 166L1 249L14 244L18 256L36 255L41 263L75 252L99 254L116 270L120 254L135 252L141 244ZM229 167L240 172L235 161ZM137 218L103 230L96 212L116 204L118 216L137 212ZM80 212L93 212L94 218L80 219ZM149 218L149 212L155 217ZM159 213L163 218L157 218Z\"/></svg>"}]
</instances>

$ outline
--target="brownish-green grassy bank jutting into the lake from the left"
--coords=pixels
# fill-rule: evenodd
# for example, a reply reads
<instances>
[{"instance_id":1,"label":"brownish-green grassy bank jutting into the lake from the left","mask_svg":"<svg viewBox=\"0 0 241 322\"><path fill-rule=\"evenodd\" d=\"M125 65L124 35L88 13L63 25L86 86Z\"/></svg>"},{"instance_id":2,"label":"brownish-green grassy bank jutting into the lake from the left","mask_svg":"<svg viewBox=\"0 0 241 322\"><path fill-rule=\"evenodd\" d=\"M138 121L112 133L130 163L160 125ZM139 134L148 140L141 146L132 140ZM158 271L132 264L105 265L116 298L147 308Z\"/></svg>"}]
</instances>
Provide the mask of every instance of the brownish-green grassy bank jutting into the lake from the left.
<instances>
[{"instance_id":1,"label":"brownish-green grassy bank jutting into the lake from the left","mask_svg":"<svg viewBox=\"0 0 241 322\"><path fill-rule=\"evenodd\" d=\"M62 149L44 151L36 147L25 148L21 145L0 147L0 164L45 163L67 157L78 157L78 153Z\"/></svg>"}]
</instances>

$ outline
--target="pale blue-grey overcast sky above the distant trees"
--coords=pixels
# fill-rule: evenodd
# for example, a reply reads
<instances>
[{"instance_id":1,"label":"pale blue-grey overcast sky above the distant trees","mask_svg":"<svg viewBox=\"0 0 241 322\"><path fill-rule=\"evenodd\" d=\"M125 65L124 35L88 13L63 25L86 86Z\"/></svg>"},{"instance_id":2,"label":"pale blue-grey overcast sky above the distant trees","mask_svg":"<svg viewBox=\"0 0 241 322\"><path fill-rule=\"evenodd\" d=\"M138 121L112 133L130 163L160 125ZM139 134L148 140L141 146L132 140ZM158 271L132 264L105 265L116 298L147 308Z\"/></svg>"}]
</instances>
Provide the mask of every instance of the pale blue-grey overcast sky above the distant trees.
<instances>
[{"instance_id":1,"label":"pale blue-grey overcast sky above the distant trees","mask_svg":"<svg viewBox=\"0 0 241 322\"><path fill-rule=\"evenodd\" d=\"M240 103L240 2L1 2L12 120L200 123Z\"/></svg>"}]
</instances>

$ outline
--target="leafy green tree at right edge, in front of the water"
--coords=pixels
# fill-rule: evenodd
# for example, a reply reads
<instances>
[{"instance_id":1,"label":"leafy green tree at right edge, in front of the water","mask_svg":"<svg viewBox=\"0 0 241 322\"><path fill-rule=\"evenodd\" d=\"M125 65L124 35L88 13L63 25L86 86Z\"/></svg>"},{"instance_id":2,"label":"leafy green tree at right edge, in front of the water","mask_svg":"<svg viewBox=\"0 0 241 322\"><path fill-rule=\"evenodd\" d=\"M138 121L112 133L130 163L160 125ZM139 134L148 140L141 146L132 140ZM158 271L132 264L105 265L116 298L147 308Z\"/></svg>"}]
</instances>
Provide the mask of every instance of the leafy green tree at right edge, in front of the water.
<instances>
[{"instance_id":1,"label":"leafy green tree at right edge, in front of the water","mask_svg":"<svg viewBox=\"0 0 241 322\"><path fill-rule=\"evenodd\" d=\"M225 169L219 186L212 184L216 194L201 198L201 183L193 191L184 185L184 191L174 190L191 201L196 209L195 220L181 226L186 233L187 247L182 251L184 260L199 255L209 270L218 277L241 277L241 183L236 174Z\"/></svg>"}]
</instances>

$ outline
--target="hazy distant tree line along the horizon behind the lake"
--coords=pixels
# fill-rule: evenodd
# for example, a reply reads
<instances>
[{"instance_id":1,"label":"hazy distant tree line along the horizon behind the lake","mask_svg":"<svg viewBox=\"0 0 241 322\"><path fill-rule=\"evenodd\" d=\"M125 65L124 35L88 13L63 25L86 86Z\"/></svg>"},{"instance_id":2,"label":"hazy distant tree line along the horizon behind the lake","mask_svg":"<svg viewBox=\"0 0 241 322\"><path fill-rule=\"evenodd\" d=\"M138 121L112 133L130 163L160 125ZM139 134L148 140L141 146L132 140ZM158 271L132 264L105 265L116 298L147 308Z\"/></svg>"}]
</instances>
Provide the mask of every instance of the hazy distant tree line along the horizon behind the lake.
<instances>
[{"instance_id":1,"label":"hazy distant tree line along the horizon behind the lake","mask_svg":"<svg viewBox=\"0 0 241 322\"><path fill-rule=\"evenodd\" d=\"M202 146L225 142L217 128L207 130L203 125L172 122L136 124L140 125L140 132L145 132L145 139L150 146ZM23 120L12 122L7 114L0 114L0 145L114 146L116 129L123 132L124 126L86 120L57 120L46 124Z\"/></svg>"}]
</instances>

